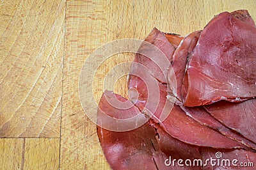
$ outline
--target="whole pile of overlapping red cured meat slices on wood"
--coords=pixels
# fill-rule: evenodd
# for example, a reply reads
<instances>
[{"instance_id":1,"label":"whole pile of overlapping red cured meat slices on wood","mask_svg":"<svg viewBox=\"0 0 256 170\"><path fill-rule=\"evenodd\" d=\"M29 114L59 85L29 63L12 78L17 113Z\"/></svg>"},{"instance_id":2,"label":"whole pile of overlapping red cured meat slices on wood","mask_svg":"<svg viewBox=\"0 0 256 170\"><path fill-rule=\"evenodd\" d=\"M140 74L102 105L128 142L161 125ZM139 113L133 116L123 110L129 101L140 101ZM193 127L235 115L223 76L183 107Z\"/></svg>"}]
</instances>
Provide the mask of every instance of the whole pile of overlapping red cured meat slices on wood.
<instances>
[{"instance_id":1,"label":"whole pile of overlapping red cured meat slices on wood","mask_svg":"<svg viewBox=\"0 0 256 170\"><path fill-rule=\"evenodd\" d=\"M220 13L202 31L184 38L154 28L132 63L129 100L105 91L99 102L97 134L111 168L239 169L241 162L256 164L254 40L256 27L246 10ZM141 73L138 64L148 72ZM150 82L155 91L148 90ZM130 107L115 107L118 101ZM108 124L104 115L147 120L115 132L102 126ZM210 158L238 163L207 164ZM184 161L173 161L179 159ZM187 164L188 159L202 164Z\"/></svg>"}]
</instances>

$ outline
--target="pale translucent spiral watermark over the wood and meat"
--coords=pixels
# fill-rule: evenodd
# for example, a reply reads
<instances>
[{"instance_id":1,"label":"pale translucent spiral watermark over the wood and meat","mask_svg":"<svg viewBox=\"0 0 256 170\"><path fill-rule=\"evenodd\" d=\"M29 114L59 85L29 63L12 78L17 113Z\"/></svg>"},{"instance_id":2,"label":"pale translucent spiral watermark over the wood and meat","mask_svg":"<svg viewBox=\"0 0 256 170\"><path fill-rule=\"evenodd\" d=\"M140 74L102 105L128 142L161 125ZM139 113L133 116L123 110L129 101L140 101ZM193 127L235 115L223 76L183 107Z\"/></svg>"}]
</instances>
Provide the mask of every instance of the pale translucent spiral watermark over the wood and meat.
<instances>
[{"instance_id":1,"label":"pale translucent spiral watermark over the wood and meat","mask_svg":"<svg viewBox=\"0 0 256 170\"><path fill-rule=\"evenodd\" d=\"M93 85L93 79L95 79L95 75L99 67L102 66L107 59L122 52L132 52L134 54L140 54L149 58L150 61L153 61L156 64L164 75L167 75L167 65L170 66L170 61L160 49L158 49L155 45L152 45L152 43L137 39L122 39L105 43L94 50L90 56L88 56L83 67L81 68L81 73L79 76L78 89L81 105L84 112L88 118L93 121L93 123L102 128L118 132L132 130L146 123L156 111L160 100L160 89L158 86L159 82L157 82L157 79L152 78L155 77L154 69L148 68L147 66L143 65L143 63L134 63L131 61L116 64L109 70L108 73L106 73L102 87L103 90L101 92L97 91L97 93L103 93L105 90L113 91L115 82L124 75L136 76L140 77L140 79L147 86L147 104L145 104L141 114L131 118L118 119L113 118L108 114L104 114L104 116L97 118L97 111L99 111L100 108L98 108L97 102L95 101L95 96L93 95L93 88L95 88ZM135 70L131 70L131 65L132 68L135 68ZM169 68L169 72L170 71L173 72L172 66ZM165 76L164 79L166 81L167 77ZM173 81L175 82L174 84L176 84L176 79L173 79ZM136 89L129 89L128 91L128 93L131 92L129 96L131 96L132 101L138 100L138 93L134 93L134 90ZM106 96L106 94L107 93L104 93L106 102L108 102L108 105L111 105L111 107L115 107L115 109L119 109L121 111L131 109L131 107L134 106L134 104L132 105L130 101L121 102L117 98L113 98L115 95L112 95L112 98L109 98ZM173 107L173 104L170 103L171 102L166 100L165 105L168 106L165 107L164 105L164 108L166 109L163 109L163 112L161 113L161 121L167 118L168 114L170 114L170 110ZM103 112L101 109L100 111ZM147 112L147 116L144 116L145 112Z\"/></svg>"}]
</instances>

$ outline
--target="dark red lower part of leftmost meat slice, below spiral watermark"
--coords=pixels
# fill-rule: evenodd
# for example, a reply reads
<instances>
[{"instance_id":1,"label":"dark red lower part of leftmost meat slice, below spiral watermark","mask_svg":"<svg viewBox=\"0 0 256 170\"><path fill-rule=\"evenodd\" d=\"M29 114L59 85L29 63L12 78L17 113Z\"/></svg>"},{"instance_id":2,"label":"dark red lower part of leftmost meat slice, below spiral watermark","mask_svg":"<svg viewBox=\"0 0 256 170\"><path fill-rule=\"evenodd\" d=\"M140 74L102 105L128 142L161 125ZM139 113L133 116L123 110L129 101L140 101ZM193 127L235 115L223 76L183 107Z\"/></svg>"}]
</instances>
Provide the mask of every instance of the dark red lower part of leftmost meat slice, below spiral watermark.
<instances>
[{"instance_id":1,"label":"dark red lower part of leftmost meat slice, below spiral watermark","mask_svg":"<svg viewBox=\"0 0 256 170\"><path fill-rule=\"evenodd\" d=\"M113 132L98 127L97 134L104 155L112 169L167 169L156 141L155 132L147 123L128 132Z\"/></svg>"}]
</instances>

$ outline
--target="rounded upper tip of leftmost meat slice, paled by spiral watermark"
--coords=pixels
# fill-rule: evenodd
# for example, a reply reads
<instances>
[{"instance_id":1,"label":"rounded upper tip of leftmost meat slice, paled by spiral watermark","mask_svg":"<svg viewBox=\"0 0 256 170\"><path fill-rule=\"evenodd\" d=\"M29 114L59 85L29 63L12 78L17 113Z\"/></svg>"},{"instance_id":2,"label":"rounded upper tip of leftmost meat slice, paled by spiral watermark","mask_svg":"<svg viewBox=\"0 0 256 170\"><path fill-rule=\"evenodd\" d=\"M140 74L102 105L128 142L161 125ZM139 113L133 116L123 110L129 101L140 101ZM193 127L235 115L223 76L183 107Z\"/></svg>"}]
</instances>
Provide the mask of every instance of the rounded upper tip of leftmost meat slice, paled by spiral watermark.
<instances>
[{"instance_id":1,"label":"rounded upper tip of leftmost meat slice, paled by spiral watermark","mask_svg":"<svg viewBox=\"0 0 256 170\"><path fill-rule=\"evenodd\" d=\"M122 114L119 114L121 111ZM102 94L97 112L97 123L101 127L124 132L138 128L147 121L131 101L112 91L104 91Z\"/></svg>"}]
</instances>

